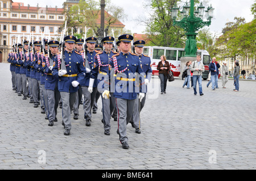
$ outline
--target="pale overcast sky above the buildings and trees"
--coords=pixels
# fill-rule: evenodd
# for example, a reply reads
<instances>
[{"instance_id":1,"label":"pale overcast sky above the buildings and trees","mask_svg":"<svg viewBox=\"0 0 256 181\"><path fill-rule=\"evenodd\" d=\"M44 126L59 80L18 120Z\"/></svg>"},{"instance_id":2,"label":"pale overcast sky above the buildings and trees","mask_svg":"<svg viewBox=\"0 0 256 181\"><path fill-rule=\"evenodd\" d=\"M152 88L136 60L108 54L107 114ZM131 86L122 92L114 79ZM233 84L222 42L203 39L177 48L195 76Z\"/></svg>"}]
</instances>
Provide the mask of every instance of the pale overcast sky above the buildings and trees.
<instances>
[{"instance_id":1,"label":"pale overcast sky above the buildings and trees","mask_svg":"<svg viewBox=\"0 0 256 181\"><path fill-rule=\"evenodd\" d=\"M127 19L122 22L125 24L127 30L131 30L133 33L143 33L145 27L142 23L135 21L135 19L141 16L147 16L150 13L149 10L144 10L144 5L148 0L111 0L117 6L123 7ZM36 6L39 3L39 7L62 7L64 0L13 0L13 2L23 2L24 6L30 4L30 6ZM254 0L208 0L209 5L212 4L214 8L214 18L210 25L210 31L221 32L225 27L226 22L233 22L234 17L243 17L246 22L253 20L250 7L253 5Z\"/></svg>"}]
</instances>

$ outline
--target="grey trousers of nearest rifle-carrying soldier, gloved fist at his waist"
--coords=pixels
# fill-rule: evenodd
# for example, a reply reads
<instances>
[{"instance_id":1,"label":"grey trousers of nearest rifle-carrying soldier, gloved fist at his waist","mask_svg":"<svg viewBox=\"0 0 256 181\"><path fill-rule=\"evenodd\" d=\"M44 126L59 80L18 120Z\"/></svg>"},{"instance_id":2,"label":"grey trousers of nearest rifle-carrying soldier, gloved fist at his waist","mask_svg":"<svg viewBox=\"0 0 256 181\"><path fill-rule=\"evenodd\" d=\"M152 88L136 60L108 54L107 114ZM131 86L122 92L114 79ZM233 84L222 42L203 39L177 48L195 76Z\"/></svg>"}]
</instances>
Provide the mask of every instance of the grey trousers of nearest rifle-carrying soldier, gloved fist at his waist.
<instances>
[{"instance_id":1,"label":"grey trousers of nearest rifle-carrying soldier, gloved fist at his waist","mask_svg":"<svg viewBox=\"0 0 256 181\"><path fill-rule=\"evenodd\" d=\"M71 110L76 101L76 92L60 92L62 99L62 118L65 129L71 129Z\"/></svg>"}]
</instances>

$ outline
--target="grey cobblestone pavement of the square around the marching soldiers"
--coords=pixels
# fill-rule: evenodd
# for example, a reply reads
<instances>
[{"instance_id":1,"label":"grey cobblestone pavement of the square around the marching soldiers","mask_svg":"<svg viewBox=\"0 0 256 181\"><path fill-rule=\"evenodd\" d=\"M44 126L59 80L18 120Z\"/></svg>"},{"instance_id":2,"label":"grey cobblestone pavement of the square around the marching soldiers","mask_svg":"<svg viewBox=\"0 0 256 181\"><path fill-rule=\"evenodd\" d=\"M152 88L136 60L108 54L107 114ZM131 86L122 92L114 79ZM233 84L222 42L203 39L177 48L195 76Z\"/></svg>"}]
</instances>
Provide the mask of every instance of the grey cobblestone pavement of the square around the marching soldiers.
<instances>
[{"instance_id":1,"label":"grey cobblestone pavement of the square around the marching soldiers","mask_svg":"<svg viewBox=\"0 0 256 181\"><path fill-rule=\"evenodd\" d=\"M168 82L161 95L153 78L141 112L142 133L127 125L125 150L113 119L105 136L100 110L86 127L80 106L79 120L72 119L71 135L65 136L60 109L59 121L48 127L40 107L12 90L9 64L0 64L0 79L0 169L256 168L256 81L240 81L239 92L232 80L215 91L203 81L204 95L195 96L179 79Z\"/></svg>"}]
</instances>

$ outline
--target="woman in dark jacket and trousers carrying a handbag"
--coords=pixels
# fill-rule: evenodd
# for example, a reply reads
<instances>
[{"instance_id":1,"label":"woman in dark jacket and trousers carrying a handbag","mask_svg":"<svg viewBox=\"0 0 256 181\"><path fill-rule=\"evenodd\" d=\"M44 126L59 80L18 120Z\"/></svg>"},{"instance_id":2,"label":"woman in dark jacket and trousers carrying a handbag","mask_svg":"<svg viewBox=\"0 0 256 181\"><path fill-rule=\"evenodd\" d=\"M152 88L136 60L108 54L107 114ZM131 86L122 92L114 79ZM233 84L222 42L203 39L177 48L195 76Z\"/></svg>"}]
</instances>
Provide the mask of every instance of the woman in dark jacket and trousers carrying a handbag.
<instances>
[{"instance_id":1,"label":"woman in dark jacket and trousers carrying a handbag","mask_svg":"<svg viewBox=\"0 0 256 181\"><path fill-rule=\"evenodd\" d=\"M159 78L161 82L161 94L166 94L166 86L167 86L167 74L169 73L169 70L171 69L169 62L166 60L166 56L162 55L160 57L161 61L158 63L158 66L156 69L159 70Z\"/></svg>"}]
</instances>

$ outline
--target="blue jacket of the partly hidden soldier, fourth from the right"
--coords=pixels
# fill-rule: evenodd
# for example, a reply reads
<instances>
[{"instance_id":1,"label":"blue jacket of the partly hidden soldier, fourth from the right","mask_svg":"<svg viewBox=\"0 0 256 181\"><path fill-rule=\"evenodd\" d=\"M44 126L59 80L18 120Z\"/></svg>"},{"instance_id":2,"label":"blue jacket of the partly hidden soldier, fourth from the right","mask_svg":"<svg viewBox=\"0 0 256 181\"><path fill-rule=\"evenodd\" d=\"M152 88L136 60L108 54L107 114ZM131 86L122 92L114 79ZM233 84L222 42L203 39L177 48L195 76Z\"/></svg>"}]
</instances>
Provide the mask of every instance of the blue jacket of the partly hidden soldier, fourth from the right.
<instances>
[{"instance_id":1,"label":"blue jacket of the partly hidden soldier, fourth from the right","mask_svg":"<svg viewBox=\"0 0 256 181\"><path fill-rule=\"evenodd\" d=\"M93 52L87 52L87 60L89 63L89 69L92 70L93 69L93 61L94 61L94 57L96 55L97 52L93 51ZM81 51L81 54L84 54L84 50ZM84 58L84 56L82 56L82 58ZM85 64L85 63L84 63ZM80 85L81 86L89 86L89 82L90 82L90 73L86 73L85 74L85 78L82 79ZM97 81L95 81L93 83L93 87L97 87Z\"/></svg>"}]
</instances>

